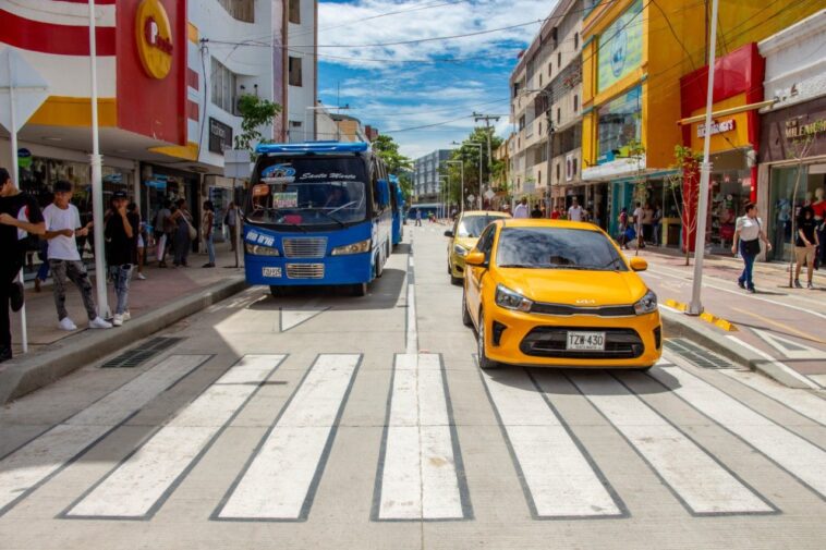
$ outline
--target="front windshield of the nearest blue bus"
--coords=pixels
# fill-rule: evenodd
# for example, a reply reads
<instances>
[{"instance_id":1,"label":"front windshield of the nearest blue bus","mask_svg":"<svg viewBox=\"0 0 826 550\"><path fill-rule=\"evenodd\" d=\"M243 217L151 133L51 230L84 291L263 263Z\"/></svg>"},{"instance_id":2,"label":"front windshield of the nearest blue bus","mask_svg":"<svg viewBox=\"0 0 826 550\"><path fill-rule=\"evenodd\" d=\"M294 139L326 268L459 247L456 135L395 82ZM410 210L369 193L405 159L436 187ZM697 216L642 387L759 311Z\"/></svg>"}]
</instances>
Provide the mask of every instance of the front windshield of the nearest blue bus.
<instances>
[{"instance_id":1,"label":"front windshield of the nearest blue bus","mask_svg":"<svg viewBox=\"0 0 826 550\"><path fill-rule=\"evenodd\" d=\"M344 227L367 218L365 162L356 157L264 158L248 193L247 219L290 227Z\"/></svg>"}]
</instances>

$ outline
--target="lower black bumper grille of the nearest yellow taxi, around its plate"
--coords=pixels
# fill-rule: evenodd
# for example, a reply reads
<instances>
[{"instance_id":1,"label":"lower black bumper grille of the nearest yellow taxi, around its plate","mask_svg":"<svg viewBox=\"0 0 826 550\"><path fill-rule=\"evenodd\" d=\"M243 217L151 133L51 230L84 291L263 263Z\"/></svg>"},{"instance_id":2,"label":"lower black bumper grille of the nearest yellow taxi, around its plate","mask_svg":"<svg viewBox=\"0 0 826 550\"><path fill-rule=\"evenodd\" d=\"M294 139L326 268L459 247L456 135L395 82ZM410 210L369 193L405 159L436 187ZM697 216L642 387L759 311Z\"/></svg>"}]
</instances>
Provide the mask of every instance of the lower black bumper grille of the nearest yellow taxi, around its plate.
<instances>
[{"instance_id":1,"label":"lower black bumper grille of the nearest yellow taxi, around its plate","mask_svg":"<svg viewBox=\"0 0 826 550\"><path fill-rule=\"evenodd\" d=\"M604 351L566 350L568 331L605 332ZM645 346L640 334L632 329L588 327L536 327L522 340L519 349L535 357L569 359L633 359L643 354Z\"/></svg>"}]
</instances>

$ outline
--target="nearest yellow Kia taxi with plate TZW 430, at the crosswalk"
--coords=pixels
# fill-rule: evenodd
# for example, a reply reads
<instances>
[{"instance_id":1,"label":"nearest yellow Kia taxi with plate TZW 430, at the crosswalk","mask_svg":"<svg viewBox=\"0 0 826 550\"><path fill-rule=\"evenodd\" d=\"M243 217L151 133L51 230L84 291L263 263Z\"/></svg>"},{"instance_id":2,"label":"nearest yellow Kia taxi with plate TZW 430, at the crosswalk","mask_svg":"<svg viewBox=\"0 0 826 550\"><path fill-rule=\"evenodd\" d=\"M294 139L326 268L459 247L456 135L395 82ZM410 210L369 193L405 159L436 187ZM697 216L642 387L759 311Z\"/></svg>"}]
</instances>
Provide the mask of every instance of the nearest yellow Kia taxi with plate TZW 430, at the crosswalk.
<instances>
[{"instance_id":1,"label":"nearest yellow Kia taxi with plate TZW 430, at the crosswalk","mask_svg":"<svg viewBox=\"0 0 826 550\"><path fill-rule=\"evenodd\" d=\"M648 369L663 352L657 296L599 228L498 220L464 256L462 321L482 368L500 364Z\"/></svg>"}]
</instances>

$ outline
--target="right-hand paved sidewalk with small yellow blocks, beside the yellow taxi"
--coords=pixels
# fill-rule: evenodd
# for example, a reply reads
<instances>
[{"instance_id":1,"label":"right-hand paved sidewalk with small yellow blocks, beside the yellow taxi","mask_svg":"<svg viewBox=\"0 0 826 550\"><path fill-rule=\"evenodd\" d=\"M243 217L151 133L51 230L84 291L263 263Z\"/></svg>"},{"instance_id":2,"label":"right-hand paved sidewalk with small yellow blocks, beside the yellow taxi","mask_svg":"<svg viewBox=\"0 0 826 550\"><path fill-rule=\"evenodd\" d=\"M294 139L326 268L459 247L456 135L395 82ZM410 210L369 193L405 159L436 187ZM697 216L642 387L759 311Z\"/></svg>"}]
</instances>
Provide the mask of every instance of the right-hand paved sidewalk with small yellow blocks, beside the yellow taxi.
<instances>
[{"instance_id":1,"label":"right-hand paved sidewalk with small yellow blocks, beside the yellow taxi","mask_svg":"<svg viewBox=\"0 0 826 550\"><path fill-rule=\"evenodd\" d=\"M787 264L757 262L757 292L749 294L737 285L740 259L706 256L701 301L710 316L704 319L679 310L691 301L693 256L688 267L677 250L649 246L640 256L648 261L641 274L657 293L671 332L688 332L788 386L826 388L826 269L815 271L815 290L790 289Z\"/></svg>"}]
</instances>

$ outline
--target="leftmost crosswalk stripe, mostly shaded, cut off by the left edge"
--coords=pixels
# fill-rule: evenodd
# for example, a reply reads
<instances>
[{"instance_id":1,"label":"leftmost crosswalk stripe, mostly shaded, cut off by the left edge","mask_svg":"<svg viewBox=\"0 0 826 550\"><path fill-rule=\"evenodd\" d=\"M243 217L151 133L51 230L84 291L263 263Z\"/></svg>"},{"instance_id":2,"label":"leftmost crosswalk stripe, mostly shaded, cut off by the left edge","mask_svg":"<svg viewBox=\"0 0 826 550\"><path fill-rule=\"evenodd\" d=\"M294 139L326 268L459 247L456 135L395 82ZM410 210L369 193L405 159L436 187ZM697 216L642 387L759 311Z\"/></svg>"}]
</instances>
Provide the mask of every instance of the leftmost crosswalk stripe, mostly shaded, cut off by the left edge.
<instances>
[{"instance_id":1,"label":"leftmost crosswalk stripe, mostly shaded, cut off by the left edge","mask_svg":"<svg viewBox=\"0 0 826 550\"><path fill-rule=\"evenodd\" d=\"M0 515L211 355L171 355L0 460Z\"/></svg>"}]
</instances>

